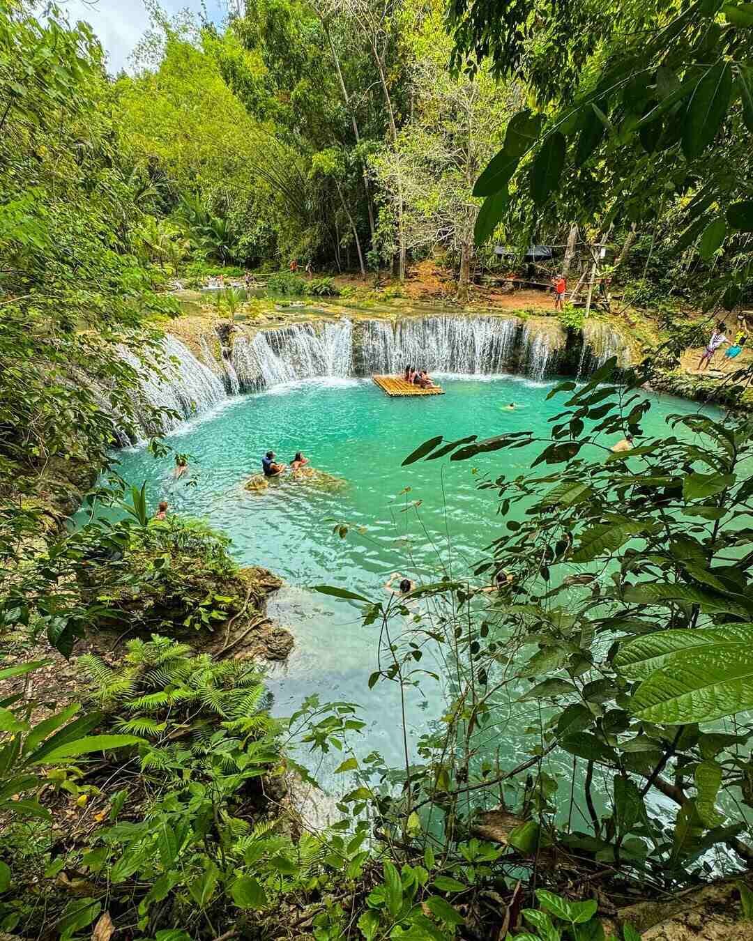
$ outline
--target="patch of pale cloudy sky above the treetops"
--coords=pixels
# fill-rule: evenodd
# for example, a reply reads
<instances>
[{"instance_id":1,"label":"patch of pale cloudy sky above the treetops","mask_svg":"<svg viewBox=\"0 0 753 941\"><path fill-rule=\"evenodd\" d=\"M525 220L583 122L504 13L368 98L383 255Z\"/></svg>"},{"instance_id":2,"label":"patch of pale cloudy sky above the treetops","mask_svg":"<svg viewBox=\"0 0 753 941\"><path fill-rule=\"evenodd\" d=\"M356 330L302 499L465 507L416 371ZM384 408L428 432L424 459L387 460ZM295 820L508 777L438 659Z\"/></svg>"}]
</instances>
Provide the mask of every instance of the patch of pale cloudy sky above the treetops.
<instances>
[{"instance_id":1,"label":"patch of pale cloudy sky above the treetops","mask_svg":"<svg viewBox=\"0 0 753 941\"><path fill-rule=\"evenodd\" d=\"M205 0L210 19L219 22L227 13L228 0ZM128 69L128 56L149 27L149 16L142 0L63 0L60 4L72 23L86 20L94 29L107 53L107 71ZM168 15L181 9L199 12L201 0L160 0Z\"/></svg>"}]
</instances>

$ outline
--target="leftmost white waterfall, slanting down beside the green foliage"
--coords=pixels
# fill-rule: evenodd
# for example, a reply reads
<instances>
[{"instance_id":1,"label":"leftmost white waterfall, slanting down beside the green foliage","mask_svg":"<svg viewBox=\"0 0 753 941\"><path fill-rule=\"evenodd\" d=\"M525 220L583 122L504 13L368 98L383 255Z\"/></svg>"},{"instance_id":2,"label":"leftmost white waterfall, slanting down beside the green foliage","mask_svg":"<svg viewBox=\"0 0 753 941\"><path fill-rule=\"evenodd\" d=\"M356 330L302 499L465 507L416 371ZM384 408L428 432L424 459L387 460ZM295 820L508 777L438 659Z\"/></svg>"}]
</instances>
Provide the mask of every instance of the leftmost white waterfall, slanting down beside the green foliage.
<instances>
[{"instance_id":1,"label":"leftmost white waterfall, slanting down beside the green foliage","mask_svg":"<svg viewBox=\"0 0 753 941\"><path fill-rule=\"evenodd\" d=\"M130 350L122 348L120 356L133 366L139 375L140 394L134 406L139 419L139 432L146 437L159 429L155 427L149 409L168 409L174 415L163 414L162 431L171 431L187 418L216 406L226 397L222 379L197 359L180 340L168 336L162 342L162 356L152 359L155 369L144 365Z\"/></svg>"}]
</instances>

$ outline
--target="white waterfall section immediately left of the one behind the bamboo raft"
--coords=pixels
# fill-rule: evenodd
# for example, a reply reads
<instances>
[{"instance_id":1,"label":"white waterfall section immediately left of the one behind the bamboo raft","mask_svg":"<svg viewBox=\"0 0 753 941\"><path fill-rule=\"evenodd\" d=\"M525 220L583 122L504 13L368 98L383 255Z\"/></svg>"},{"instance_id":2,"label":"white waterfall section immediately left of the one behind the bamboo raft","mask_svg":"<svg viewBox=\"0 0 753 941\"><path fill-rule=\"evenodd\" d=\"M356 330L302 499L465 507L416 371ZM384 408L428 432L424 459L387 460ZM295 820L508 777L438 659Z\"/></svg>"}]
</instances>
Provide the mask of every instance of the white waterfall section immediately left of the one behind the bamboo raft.
<instances>
[{"instance_id":1,"label":"white waterfall section immediately left of the one behind the bamboo raft","mask_svg":"<svg viewBox=\"0 0 753 941\"><path fill-rule=\"evenodd\" d=\"M317 376L353 373L353 325L349 320L294 324L259 330L253 340L239 336L232 346L232 366L243 391Z\"/></svg>"}]
</instances>

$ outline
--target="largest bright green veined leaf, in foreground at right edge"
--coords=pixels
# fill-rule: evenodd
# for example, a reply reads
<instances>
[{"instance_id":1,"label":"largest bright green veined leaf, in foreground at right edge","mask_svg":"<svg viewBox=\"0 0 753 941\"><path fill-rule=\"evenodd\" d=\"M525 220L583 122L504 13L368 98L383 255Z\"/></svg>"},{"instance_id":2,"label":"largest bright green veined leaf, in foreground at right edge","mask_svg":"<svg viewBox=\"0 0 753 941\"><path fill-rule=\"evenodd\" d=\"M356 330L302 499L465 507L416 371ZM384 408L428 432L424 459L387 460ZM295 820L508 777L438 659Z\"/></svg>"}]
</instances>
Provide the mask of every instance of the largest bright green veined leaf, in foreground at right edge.
<instances>
[{"instance_id":1,"label":"largest bright green veined leaf, in foreground at right edge","mask_svg":"<svg viewBox=\"0 0 753 941\"><path fill-rule=\"evenodd\" d=\"M735 633L737 631L737 633ZM710 722L753 708L753 625L717 630L664 630L637 638L639 661L619 669L629 678L645 676L649 663L661 663L633 694L633 713L663 725ZM681 636L685 635L685 636ZM633 651L634 653L634 651ZM626 654L620 650L618 657Z\"/></svg>"}]
</instances>

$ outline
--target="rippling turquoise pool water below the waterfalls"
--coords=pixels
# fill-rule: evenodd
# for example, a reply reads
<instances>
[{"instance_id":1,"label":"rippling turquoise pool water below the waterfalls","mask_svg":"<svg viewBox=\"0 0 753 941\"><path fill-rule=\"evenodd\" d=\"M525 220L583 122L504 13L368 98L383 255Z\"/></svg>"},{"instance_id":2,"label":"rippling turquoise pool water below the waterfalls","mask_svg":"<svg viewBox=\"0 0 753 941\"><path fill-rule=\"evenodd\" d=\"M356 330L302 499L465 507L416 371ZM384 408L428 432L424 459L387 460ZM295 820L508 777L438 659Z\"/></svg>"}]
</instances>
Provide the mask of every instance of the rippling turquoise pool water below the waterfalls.
<instances>
[{"instance_id":1,"label":"rippling turquoise pool water below the waterfalls","mask_svg":"<svg viewBox=\"0 0 753 941\"><path fill-rule=\"evenodd\" d=\"M232 537L241 565L267 566L285 579L270 613L291 627L296 647L288 662L270 669L275 711L288 715L312 693L359 702L367 722L359 752L376 749L393 764L402 755L396 688L367 688L376 668L376 626L363 628L355 605L307 586L324 582L385 599L384 582L393 571L418 582L435 581L441 566L451 567L454 577L467 575L504 526L493 493L476 489L473 467L516 476L539 446L457 463L402 468L401 461L435 435L482 439L531 430L548 437L547 420L563 402L562 396L546 401L552 382L521 376L448 377L442 384L443 396L391 399L370 380L328 378L225 400L167 439L192 455L196 487L173 480L171 462L156 461L142 448L120 455L123 476L138 486L146 480L153 505L167 499L171 512L206 519ZM520 407L503 410L509 402ZM655 400L644 430L661 433L664 415L692 410L680 400ZM302 451L312 466L344 477L348 486L322 493L283 481L261 496L249 493L243 483L261 470L269 448L285 462ZM414 501L421 501L418 510ZM335 521L351 526L346 539L333 534ZM439 714L443 696L428 681L409 699L409 740L415 743ZM520 726L500 726L499 736L511 761L528 747Z\"/></svg>"}]
</instances>

